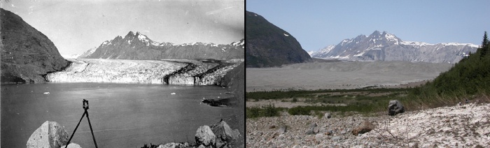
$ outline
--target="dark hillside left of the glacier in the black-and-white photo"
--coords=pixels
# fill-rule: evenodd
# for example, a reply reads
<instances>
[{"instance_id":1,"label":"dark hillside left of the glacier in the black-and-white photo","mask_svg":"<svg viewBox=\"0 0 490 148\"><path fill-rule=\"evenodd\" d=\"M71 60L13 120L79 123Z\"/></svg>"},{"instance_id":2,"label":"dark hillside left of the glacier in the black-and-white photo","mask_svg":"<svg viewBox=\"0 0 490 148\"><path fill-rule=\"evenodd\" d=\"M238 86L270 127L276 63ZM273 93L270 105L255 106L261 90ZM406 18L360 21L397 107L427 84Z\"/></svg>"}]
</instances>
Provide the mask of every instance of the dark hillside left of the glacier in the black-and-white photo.
<instances>
[{"instance_id":1,"label":"dark hillside left of the glacier in the black-and-white photo","mask_svg":"<svg viewBox=\"0 0 490 148\"><path fill-rule=\"evenodd\" d=\"M0 10L1 82L44 82L44 75L68 65L47 36L21 17Z\"/></svg>"}]
</instances>

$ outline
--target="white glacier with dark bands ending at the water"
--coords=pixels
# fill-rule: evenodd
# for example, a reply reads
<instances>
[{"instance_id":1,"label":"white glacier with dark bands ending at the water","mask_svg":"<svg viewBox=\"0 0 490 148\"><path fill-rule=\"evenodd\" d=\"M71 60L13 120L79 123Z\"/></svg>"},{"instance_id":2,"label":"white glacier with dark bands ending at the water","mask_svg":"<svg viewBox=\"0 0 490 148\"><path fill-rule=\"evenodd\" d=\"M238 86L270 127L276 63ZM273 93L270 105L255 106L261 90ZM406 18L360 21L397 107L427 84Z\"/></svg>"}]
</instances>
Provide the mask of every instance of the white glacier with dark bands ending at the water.
<instances>
[{"instance_id":1,"label":"white glacier with dark bands ending at the water","mask_svg":"<svg viewBox=\"0 0 490 148\"><path fill-rule=\"evenodd\" d=\"M219 84L223 77L232 68L238 66L242 60L232 61L233 64L219 68L213 73L203 74L202 78L196 75L205 73L218 64L204 63L195 60L124 60L124 59L69 59L73 63L64 71L46 75L48 82L108 82L108 83L141 83L141 84ZM195 65L186 73L176 74L177 71ZM169 77L165 82L164 77ZM202 82L201 82L202 81Z\"/></svg>"}]
</instances>

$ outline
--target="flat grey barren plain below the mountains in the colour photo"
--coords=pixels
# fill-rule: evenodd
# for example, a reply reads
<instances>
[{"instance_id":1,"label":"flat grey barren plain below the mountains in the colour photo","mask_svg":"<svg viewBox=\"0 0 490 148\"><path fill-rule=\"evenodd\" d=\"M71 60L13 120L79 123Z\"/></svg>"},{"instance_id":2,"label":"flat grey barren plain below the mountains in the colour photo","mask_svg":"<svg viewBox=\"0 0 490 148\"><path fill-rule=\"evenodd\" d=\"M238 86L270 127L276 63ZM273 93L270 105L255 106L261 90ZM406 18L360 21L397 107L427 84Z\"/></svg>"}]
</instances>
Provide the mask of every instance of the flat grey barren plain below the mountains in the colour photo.
<instances>
[{"instance_id":1,"label":"flat grey barren plain below the mountains in the colour photo","mask_svg":"<svg viewBox=\"0 0 490 148\"><path fill-rule=\"evenodd\" d=\"M339 61L291 64L281 68L246 68L246 91L398 87L400 84L432 80L451 66L405 61Z\"/></svg>"}]
</instances>

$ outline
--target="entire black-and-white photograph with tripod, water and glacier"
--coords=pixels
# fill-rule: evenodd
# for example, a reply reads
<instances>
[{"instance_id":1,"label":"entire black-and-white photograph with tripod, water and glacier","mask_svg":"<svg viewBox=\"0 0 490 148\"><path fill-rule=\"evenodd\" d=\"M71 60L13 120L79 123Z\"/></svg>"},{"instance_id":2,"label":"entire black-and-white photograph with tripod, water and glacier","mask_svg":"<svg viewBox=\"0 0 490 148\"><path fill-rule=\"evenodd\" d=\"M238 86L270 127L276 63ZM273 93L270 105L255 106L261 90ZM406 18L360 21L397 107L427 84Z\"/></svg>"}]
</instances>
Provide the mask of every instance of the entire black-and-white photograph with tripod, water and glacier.
<instances>
[{"instance_id":1,"label":"entire black-and-white photograph with tripod, water and glacier","mask_svg":"<svg viewBox=\"0 0 490 148\"><path fill-rule=\"evenodd\" d=\"M1 147L244 147L245 1L0 3Z\"/></svg>"}]
</instances>

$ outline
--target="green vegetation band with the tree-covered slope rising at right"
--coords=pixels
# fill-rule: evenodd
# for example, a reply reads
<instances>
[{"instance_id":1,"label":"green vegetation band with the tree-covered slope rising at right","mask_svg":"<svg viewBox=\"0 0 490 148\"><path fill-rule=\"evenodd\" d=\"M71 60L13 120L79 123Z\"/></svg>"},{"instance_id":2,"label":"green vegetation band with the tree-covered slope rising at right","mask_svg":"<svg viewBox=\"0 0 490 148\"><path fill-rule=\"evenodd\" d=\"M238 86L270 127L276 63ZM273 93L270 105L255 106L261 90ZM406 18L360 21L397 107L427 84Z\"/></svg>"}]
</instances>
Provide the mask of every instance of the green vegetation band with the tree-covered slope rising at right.
<instances>
[{"instance_id":1,"label":"green vegetation band with the tree-covered slope rising at right","mask_svg":"<svg viewBox=\"0 0 490 148\"><path fill-rule=\"evenodd\" d=\"M407 110L423 110L444 105L470 102L490 102L490 53L486 32L477 52L470 53L449 71L441 73L432 82L405 89L337 89L337 90L277 90L247 92L248 101L279 99L295 103L342 103L345 105L310 105L294 108L274 108L274 105L247 108L246 117L276 116L280 110L289 114L316 114L321 112L376 113L387 110L388 101L398 99ZM292 99L292 100L291 100Z\"/></svg>"}]
</instances>

